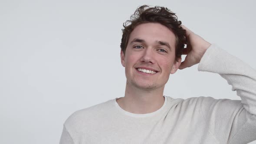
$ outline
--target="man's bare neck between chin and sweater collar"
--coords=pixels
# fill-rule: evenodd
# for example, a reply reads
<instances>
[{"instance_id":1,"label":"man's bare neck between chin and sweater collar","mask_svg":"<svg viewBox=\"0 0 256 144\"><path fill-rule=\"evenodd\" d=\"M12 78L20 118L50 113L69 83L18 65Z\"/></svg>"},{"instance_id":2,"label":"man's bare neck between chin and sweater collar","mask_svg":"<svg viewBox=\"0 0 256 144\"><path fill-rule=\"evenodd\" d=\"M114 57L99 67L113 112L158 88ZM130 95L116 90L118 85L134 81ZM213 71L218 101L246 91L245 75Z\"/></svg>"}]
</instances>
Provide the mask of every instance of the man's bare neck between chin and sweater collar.
<instances>
[{"instance_id":1,"label":"man's bare neck between chin and sweater collar","mask_svg":"<svg viewBox=\"0 0 256 144\"><path fill-rule=\"evenodd\" d=\"M125 97L117 100L125 111L134 114L147 114L157 111L164 105L164 86L151 90L143 90L126 83Z\"/></svg>"}]
</instances>

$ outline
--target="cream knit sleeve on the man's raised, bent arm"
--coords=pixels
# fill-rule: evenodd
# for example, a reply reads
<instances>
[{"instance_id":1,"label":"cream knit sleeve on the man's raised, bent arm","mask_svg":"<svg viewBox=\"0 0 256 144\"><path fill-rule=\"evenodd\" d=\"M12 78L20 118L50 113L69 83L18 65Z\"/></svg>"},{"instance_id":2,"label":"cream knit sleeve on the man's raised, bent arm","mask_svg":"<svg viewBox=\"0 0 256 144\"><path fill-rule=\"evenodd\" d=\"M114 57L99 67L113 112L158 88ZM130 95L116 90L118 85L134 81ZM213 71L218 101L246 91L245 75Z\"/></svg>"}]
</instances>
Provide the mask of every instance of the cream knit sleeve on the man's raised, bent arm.
<instances>
[{"instance_id":1,"label":"cream knit sleeve on the man's raised, bent arm","mask_svg":"<svg viewBox=\"0 0 256 144\"><path fill-rule=\"evenodd\" d=\"M214 44L203 55L198 70L220 74L241 98L203 101L201 109L210 133L221 144L256 140L256 71Z\"/></svg>"}]
</instances>

